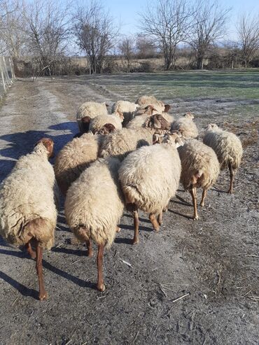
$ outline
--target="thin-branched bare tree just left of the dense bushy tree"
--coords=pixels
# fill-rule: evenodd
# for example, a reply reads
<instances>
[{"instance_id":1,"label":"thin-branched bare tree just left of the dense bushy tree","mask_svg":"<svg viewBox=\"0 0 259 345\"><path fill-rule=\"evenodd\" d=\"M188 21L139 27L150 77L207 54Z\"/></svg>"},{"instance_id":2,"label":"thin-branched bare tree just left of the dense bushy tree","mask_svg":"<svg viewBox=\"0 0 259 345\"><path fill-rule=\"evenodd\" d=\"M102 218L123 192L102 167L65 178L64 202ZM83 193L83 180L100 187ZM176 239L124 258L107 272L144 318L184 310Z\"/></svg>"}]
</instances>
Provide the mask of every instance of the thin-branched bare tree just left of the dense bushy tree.
<instances>
[{"instance_id":1,"label":"thin-branched bare tree just left of the dense bushy tree","mask_svg":"<svg viewBox=\"0 0 259 345\"><path fill-rule=\"evenodd\" d=\"M35 0L23 9L27 48L33 57L34 74L51 76L64 56L69 36L69 5L56 0Z\"/></svg>"}]
</instances>

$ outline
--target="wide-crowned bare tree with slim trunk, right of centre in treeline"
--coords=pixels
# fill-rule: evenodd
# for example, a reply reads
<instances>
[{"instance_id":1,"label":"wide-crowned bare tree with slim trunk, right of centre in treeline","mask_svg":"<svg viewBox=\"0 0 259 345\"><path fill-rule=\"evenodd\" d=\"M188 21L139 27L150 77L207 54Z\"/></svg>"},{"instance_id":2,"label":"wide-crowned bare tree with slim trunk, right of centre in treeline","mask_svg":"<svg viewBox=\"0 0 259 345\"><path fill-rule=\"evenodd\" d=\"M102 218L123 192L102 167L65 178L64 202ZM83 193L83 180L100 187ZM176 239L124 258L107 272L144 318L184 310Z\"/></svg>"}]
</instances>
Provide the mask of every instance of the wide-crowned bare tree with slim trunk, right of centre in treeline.
<instances>
[{"instance_id":1,"label":"wide-crowned bare tree with slim trunk, right of centre in treeline","mask_svg":"<svg viewBox=\"0 0 259 345\"><path fill-rule=\"evenodd\" d=\"M140 14L141 29L160 46L167 70L175 66L176 47L186 40L191 15L188 0L158 0Z\"/></svg>"}]
</instances>

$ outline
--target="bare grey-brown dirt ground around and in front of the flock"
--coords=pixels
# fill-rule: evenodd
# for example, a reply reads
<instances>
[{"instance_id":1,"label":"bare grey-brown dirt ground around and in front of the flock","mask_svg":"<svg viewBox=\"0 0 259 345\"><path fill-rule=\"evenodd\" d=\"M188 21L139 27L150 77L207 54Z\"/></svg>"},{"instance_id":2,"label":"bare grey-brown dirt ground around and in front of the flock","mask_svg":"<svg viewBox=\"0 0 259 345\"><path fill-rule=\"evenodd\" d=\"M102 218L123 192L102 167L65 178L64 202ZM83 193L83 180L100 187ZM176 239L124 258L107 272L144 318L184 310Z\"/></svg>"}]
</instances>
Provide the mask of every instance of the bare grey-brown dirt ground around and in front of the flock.
<instances>
[{"instance_id":1,"label":"bare grey-brown dirt ground around and in front of the flock","mask_svg":"<svg viewBox=\"0 0 259 345\"><path fill-rule=\"evenodd\" d=\"M80 78L18 80L0 108L1 180L41 136L52 136L56 150L71 140L78 105L112 103L102 93ZM235 195L224 192L223 172L193 222L190 195L180 190L158 234L141 215L138 246L130 244L132 218L125 213L105 254L104 293L94 288L95 258L70 244L62 209L55 248L44 254L47 302L36 300L35 263L0 239L0 344L258 344L256 118L226 123L211 111L199 118L199 129L208 115L244 143Z\"/></svg>"}]
</instances>

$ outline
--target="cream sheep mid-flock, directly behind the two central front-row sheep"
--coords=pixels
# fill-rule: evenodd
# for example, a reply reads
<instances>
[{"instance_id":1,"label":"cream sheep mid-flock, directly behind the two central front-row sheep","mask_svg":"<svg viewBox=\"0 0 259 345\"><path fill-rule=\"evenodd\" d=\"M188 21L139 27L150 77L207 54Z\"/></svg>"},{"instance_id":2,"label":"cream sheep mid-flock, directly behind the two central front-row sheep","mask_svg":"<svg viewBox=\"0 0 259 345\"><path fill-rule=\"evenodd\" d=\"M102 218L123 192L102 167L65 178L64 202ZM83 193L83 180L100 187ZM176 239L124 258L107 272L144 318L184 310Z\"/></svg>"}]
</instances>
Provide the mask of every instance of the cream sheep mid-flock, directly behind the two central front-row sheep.
<instances>
[{"instance_id":1,"label":"cream sheep mid-flock, directly behind the two central front-row sheep","mask_svg":"<svg viewBox=\"0 0 259 345\"><path fill-rule=\"evenodd\" d=\"M146 127L139 127L137 129L123 128L116 133L108 134L102 142L99 157L113 155L119 160L123 160L133 150L141 146L152 145L153 134L155 132L163 132L169 128L169 123L165 119L161 120L160 115L154 116L157 117L157 122L160 122L159 129L155 128L159 127L158 125L153 125L152 121L148 121Z\"/></svg>"}]
</instances>

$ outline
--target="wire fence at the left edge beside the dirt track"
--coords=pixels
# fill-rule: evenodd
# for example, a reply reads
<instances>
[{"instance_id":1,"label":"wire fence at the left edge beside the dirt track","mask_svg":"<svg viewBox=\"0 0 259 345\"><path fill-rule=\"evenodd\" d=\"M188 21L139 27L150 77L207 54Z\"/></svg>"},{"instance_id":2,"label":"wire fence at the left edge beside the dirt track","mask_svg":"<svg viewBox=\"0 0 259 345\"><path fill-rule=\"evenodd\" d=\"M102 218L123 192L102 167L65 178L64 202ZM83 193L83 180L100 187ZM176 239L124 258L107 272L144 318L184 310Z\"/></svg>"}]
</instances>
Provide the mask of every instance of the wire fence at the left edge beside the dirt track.
<instances>
[{"instance_id":1,"label":"wire fence at the left edge beside the dirt track","mask_svg":"<svg viewBox=\"0 0 259 345\"><path fill-rule=\"evenodd\" d=\"M15 73L12 59L10 57L0 56L0 101L14 79Z\"/></svg>"}]
</instances>

